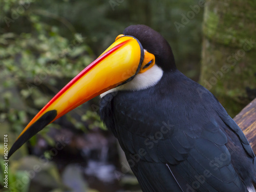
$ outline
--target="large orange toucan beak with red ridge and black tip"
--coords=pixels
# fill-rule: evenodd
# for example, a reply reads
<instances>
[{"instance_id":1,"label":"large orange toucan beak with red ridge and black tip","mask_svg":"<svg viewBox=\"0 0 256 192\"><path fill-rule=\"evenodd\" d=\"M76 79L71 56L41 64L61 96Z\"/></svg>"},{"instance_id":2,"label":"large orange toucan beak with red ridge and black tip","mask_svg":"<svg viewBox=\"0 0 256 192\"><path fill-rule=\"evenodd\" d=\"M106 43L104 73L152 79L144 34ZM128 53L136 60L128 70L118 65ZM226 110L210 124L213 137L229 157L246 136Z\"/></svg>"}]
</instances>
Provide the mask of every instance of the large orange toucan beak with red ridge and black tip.
<instances>
[{"instance_id":1,"label":"large orange toucan beak with red ridge and black tip","mask_svg":"<svg viewBox=\"0 0 256 192\"><path fill-rule=\"evenodd\" d=\"M140 42L132 36L119 35L108 49L39 111L20 133L8 157L49 123L93 97L131 80L140 71L143 60L144 50Z\"/></svg>"}]
</instances>

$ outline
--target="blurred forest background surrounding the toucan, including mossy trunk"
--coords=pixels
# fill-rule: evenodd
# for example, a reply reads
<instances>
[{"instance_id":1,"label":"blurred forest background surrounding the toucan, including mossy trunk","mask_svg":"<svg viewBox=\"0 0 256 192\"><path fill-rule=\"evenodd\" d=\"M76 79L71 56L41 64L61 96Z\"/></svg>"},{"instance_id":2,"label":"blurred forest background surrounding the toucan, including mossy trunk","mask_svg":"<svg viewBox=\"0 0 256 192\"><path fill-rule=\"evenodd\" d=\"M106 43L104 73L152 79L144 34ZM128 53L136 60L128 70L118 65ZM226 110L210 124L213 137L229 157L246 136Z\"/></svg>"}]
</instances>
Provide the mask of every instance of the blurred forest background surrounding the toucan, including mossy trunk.
<instances>
[{"instance_id":1,"label":"blurred forest background surrounding the toucan, including mossy trunk","mask_svg":"<svg viewBox=\"0 0 256 192\"><path fill-rule=\"evenodd\" d=\"M233 117L256 96L255 3L243 2L0 0L0 153L4 135L10 149L34 115L134 24L160 32L178 69ZM82 104L20 148L9 161L8 189L1 155L0 190L140 191L98 102Z\"/></svg>"}]
</instances>

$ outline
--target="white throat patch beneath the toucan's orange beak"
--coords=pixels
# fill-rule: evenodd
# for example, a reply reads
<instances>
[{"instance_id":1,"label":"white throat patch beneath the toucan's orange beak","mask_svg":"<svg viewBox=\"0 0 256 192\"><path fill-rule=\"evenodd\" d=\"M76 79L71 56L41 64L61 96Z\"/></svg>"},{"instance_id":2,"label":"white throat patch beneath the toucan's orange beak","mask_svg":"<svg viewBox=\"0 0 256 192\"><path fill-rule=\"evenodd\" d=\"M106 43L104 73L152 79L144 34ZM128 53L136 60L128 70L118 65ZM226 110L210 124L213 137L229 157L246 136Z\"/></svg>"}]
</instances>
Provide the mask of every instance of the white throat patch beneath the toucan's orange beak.
<instances>
[{"instance_id":1,"label":"white throat patch beneath the toucan's orange beak","mask_svg":"<svg viewBox=\"0 0 256 192\"><path fill-rule=\"evenodd\" d=\"M160 67L158 67L155 63L155 65L151 69L148 69L144 73L138 73L130 82L127 82L122 86L106 91L100 94L100 97L104 97L108 93L120 90L138 91L153 87L155 86L155 84L158 83L162 76L163 70Z\"/></svg>"}]
</instances>

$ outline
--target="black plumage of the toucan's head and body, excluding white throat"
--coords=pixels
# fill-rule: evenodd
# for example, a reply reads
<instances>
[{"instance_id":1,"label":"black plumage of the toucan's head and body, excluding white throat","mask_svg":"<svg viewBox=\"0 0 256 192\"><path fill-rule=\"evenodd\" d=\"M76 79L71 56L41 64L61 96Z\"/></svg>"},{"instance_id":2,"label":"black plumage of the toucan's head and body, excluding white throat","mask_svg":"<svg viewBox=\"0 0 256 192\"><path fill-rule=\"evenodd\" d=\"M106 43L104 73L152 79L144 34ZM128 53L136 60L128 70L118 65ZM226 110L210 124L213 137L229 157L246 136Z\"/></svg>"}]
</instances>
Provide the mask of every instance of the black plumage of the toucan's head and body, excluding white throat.
<instances>
[{"instance_id":1,"label":"black plumage of the toucan's head and body, excluding white throat","mask_svg":"<svg viewBox=\"0 0 256 192\"><path fill-rule=\"evenodd\" d=\"M153 87L118 91L100 101L100 116L118 139L143 191L247 191L255 156L219 101L176 69L156 31L130 26L156 57L163 76Z\"/></svg>"}]
</instances>

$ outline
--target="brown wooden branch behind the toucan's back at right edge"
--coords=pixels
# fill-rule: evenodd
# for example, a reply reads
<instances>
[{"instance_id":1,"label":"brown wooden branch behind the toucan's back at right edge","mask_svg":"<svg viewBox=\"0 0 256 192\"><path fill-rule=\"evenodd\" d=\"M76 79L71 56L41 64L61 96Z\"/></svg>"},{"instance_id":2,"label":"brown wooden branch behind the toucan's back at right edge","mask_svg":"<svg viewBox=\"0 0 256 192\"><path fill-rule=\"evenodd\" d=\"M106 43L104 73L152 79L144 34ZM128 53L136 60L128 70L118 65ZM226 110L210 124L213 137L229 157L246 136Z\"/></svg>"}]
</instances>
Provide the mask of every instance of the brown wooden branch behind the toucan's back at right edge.
<instances>
[{"instance_id":1,"label":"brown wooden branch behind the toucan's back at right edge","mask_svg":"<svg viewBox=\"0 0 256 192\"><path fill-rule=\"evenodd\" d=\"M256 154L256 98L234 117L234 121L240 126Z\"/></svg>"}]
</instances>

